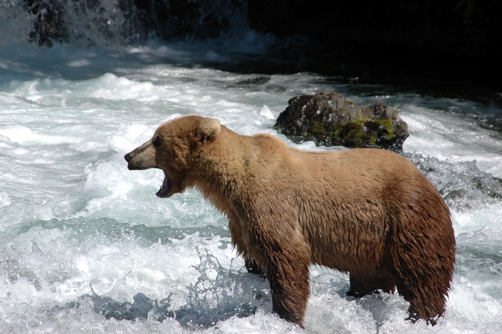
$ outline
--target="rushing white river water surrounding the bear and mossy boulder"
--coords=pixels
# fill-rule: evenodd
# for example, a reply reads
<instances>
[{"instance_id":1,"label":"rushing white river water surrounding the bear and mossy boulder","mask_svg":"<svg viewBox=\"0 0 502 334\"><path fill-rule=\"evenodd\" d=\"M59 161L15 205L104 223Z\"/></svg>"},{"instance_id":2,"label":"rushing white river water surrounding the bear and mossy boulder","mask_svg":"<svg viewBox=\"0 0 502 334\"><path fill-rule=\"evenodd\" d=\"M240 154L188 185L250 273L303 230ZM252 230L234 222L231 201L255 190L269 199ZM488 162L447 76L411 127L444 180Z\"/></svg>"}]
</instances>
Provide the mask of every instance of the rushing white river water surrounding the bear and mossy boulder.
<instances>
[{"instance_id":1,"label":"rushing white river water surrounding the bear and mossy boulder","mask_svg":"<svg viewBox=\"0 0 502 334\"><path fill-rule=\"evenodd\" d=\"M246 38L233 43L266 43ZM401 110L404 151L447 199L458 253L435 327L406 321L399 294L347 297L348 277L313 267L306 331L499 332L502 137L469 116L493 106L193 65L206 60L226 56L195 42L0 51L0 332L303 332L271 312L268 282L245 272L224 216L195 191L157 198L162 172L129 171L123 155L190 113L337 150L272 129L289 98L321 90Z\"/></svg>"}]
</instances>

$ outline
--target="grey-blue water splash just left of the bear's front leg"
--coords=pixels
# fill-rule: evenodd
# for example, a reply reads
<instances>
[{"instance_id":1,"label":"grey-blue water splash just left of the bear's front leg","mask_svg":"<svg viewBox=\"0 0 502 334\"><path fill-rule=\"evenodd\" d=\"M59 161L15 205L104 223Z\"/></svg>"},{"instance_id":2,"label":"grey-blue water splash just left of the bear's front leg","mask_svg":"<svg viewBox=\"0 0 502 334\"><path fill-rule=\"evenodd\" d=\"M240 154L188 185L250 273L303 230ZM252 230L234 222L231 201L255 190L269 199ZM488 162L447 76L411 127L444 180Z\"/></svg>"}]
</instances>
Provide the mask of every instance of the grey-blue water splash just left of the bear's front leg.
<instances>
[{"instance_id":1,"label":"grey-blue water splash just left of the bear's front leg","mask_svg":"<svg viewBox=\"0 0 502 334\"><path fill-rule=\"evenodd\" d=\"M118 301L98 295L92 286L91 294L84 294L76 301L64 306L56 305L51 314L63 310L91 305L94 312L106 319L164 321L176 319L183 326L207 328L231 317L246 317L254 314L259 307L270 304L269 286L262 277L225 269L214 255L207 251L199 254L200 264L192 266L200 276L197 282L188 286L187 304L174 310L171 307L173 293L161 300L151 299L137 293L133 302Z\"/></svg>"}]
</instances>

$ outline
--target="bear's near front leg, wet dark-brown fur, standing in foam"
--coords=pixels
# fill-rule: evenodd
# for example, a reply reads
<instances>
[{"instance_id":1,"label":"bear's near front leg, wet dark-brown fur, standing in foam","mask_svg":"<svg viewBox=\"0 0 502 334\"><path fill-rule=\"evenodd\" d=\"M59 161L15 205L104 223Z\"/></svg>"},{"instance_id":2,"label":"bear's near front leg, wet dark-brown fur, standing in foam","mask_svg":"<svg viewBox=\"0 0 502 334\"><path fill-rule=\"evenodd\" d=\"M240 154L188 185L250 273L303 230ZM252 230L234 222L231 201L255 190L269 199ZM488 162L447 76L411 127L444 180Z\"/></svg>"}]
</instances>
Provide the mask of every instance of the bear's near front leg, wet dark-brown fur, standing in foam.
<instances>
[{"instance_id":1,"label":"bear's near front leg, wet dark-brown fur, standing in foam","mask_svg":"<svg viewBox=\"0 0 502 334\"><path fill-rule=\"evenodd\" d=\"M277 247L277 245L275 245ZM273 312L303 328L310 295L310 252L305 245L287 244L269 253L267 277Z\"/></svg>"}]
</instances>

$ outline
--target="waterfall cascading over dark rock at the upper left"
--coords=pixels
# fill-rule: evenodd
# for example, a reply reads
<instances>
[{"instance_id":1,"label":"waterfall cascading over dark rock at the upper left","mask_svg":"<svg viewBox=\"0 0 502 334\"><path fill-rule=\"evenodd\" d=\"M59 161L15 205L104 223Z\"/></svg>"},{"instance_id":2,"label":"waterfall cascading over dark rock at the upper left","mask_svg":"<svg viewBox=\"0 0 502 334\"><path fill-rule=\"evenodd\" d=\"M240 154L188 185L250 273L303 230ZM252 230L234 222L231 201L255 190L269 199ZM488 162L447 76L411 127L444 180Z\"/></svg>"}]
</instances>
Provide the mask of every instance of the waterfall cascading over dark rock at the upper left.
<instances>
[{"instance_id":1,"label":"waterfall cascading over dark rock at the upper left","mask_svg":"<svg viewBox=\"0 0 502 334\"><path fill-rule=\"evenodd\" d=\"M247 26L244 0L15 0L0 4L0 45L137 45L217 38Z\"/></svg>"}]
</instances>

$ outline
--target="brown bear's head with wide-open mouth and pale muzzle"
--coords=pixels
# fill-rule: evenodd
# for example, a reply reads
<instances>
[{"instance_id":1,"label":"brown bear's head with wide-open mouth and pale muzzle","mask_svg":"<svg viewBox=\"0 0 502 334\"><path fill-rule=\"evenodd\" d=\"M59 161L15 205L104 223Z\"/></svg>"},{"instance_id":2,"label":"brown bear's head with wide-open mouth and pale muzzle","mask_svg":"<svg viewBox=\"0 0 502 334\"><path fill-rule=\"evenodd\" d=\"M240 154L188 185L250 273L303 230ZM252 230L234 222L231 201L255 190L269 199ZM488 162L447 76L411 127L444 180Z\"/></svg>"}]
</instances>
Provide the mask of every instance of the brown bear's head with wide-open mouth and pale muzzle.
<instances>
[{"instance_id":1,"label":"brown bear's head with wide-open mouth and pale muzzle","mask_svg":"<svg viewBox=\"0 0 502 334\"><path fill-rule=\"evenodd\" d=\"M190 166L193 166L204 145L221 132L218 120L188 115L160 125L154 136L124 156L130 170L159 168L164 182L158 197L170 197L191 186Z\"/></svg>"}]
</instances>

